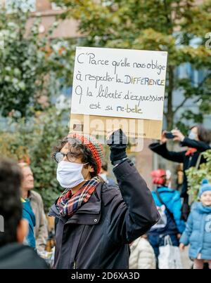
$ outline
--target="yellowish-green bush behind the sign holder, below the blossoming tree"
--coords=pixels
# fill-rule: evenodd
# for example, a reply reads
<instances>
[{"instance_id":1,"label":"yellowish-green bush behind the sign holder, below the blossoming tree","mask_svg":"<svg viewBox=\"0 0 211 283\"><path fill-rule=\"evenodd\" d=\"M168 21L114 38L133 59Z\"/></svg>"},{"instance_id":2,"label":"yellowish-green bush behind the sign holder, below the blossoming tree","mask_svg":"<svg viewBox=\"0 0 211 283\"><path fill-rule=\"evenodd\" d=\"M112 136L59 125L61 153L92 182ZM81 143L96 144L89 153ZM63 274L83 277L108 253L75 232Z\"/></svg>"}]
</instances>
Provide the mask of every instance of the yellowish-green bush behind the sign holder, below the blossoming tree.
<instances>
[{"instance_id":1,"label":"yellowish-green bush behind the sign holder, below the blossoming tree","mask_svg":"<svg viewBox=\"0 0 211 283\"><path fill-rule=\"evenodd\" d=\"M67 136L68 126L63 122L66 114L66 111L49 108L45 113L36 112L28 121L10 118L7 129L0 131L1 157L30 163L34 190L44 199L46 211L63 190L56 180L57 164L51 152L58 140Z\"/></svg>"}]
</instances>

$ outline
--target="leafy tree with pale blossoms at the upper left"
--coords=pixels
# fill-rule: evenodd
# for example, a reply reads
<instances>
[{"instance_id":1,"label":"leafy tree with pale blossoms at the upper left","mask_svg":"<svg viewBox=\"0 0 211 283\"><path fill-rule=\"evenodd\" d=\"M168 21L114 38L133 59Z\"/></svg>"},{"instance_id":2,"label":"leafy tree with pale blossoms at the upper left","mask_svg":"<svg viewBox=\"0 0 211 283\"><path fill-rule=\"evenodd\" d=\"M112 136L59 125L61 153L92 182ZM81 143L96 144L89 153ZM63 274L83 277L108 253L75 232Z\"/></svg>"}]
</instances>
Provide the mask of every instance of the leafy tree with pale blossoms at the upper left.
<instances>
[{"instance_id":1,"label":"leafy tree with pale blossoms at the upper left","mask_svg":"<svg viewBox=\"0 0 211 283\"><path fill-rule=\"evenodd\" d=\"M40 108L39 98L48 97L51 89L59 90L72 70L70 44L63 39L51 40L57 23L41 37L41 18L27 25L30 11L18 5L20 1L13 3L13 13L0 10L0 114L5 117L12 110L20 117L32 115L33 108ZM60 78L63 80L55 88L53 84Z\"/></svg>"}]
</instances>

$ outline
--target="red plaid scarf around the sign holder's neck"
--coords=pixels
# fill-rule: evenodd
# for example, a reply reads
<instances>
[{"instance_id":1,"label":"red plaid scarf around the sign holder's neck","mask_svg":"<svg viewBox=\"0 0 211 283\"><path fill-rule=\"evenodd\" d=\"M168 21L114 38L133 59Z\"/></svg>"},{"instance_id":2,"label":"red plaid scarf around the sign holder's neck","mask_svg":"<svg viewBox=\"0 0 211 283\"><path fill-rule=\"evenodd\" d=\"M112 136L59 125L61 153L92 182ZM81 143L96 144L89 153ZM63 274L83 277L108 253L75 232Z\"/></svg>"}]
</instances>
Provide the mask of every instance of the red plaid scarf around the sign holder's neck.
<instances>
[{"instance_id":1,"label":"red plaid scarf around the sign holder's neck","mask_svg":"<svg viewBox=\"0 0 211 283\"><path fill-rule=\"evenodd\" d=\"M72 216L77 209L89 201L99 183L101 180L96 176L82 185L74 195L70 189L65 190L56 204L60 216Z\"/></svg>"}]
</instances>

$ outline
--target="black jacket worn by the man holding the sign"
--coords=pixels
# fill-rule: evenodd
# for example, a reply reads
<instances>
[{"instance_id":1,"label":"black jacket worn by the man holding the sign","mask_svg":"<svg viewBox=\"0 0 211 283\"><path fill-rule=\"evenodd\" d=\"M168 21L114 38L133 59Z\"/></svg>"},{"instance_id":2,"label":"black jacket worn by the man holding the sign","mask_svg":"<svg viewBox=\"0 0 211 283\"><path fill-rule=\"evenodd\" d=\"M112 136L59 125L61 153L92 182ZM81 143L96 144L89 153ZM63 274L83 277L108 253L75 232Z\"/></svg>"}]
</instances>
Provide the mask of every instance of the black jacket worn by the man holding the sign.
<instances>
[{"instance_id":1,"label":"black jacket worn by the man holding the sign","mask_svg":"<svg viewBox=\"0 0 211 283\"><path fill-rule=\"evenodd\" d=\"M89 202L70 218L56 205L55 268L128 268L129 243L160 218L151 191L133 164L114 169L120 190L101 183Z\"/></svg>"}]
</instances>

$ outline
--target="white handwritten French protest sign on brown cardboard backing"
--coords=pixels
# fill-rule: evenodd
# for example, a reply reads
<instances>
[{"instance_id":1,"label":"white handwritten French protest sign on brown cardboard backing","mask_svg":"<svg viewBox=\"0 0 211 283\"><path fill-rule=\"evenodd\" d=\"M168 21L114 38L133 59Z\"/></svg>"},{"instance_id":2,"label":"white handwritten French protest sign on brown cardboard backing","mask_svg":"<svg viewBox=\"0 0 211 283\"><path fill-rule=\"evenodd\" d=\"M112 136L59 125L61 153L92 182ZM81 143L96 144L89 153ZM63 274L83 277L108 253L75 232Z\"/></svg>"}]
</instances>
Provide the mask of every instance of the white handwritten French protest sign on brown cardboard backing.
<instances>
[{"instance_id":1,"label":"white handwritten French protest sign on brown cardboard backing","mask_svg":"<svg viewBox=\"0 0 211 283\"><path fill-rule=\"evenodd\" d=\"M77 47L70 131L160 138L167 52Z\"/></svg>"}]
</instances>

